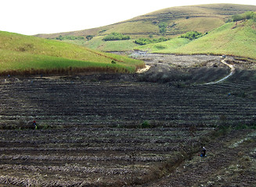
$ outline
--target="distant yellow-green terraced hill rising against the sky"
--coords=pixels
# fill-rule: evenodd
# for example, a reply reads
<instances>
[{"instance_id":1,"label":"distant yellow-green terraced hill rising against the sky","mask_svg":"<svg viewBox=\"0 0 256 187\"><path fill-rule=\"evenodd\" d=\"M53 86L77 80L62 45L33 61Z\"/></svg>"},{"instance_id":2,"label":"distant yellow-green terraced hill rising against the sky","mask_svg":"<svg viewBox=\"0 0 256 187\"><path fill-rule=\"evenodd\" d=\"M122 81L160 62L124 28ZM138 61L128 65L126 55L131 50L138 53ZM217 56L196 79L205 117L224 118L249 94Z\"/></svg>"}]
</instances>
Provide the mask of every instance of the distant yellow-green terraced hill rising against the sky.
<instances>
[{"instance_id":1,"label":"distant yellow-green terraced hill rising against the sky","mask_svg":"<svg viewBox=\"0 0 256 187\"><path fill-rule=\"evenodd\" d=\"M246 11L256 11L256 6L253 5L233 5L233 4L213 4L213 5L193 5L171 7L168 9L160 9L155 12L150 12L146 15L137 16L133 19L128 19L120 23L115 23L108 26L101 26L89 30L78 30L59 34L38 34L38 37L59 37L59 35L87 36L94 35L92 41L81 43L81 41L72 41L75 44L81 44L88 48L97 49L100 51L129 51L135 47L132 43L138 37L161 37L157 23L168 23L167 33L165 37L177 37L187 31L197 30L205 33L214 30L218 26L222 26L225 20L230 16ZM101 41L100 37L119 32L128 34L132 40L130 41Z\"/></svg>"}]
</instances>

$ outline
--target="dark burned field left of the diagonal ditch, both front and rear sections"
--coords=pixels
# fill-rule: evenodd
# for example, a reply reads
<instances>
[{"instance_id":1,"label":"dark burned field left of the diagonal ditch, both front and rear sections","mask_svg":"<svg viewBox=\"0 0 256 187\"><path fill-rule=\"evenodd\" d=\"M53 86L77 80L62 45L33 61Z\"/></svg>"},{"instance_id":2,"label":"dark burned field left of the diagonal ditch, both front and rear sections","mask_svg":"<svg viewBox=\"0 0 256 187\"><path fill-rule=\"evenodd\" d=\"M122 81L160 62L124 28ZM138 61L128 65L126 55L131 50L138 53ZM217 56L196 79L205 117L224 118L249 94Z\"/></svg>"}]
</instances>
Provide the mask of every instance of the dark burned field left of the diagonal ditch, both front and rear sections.
<instances>
[{"instance_id":1,"label":"dark burned field left of the diagonal ditch, both front and rear sections","mask_svg":"<svg viewBox=\"0 0 256 187\"><path fill-rule=\"evenodd\" d=\"M0 186L153 182L197 155L219 125L254 124L254 75L240 69L213 85L139 76L0 79Z\"/></svg>"}]
</instances>

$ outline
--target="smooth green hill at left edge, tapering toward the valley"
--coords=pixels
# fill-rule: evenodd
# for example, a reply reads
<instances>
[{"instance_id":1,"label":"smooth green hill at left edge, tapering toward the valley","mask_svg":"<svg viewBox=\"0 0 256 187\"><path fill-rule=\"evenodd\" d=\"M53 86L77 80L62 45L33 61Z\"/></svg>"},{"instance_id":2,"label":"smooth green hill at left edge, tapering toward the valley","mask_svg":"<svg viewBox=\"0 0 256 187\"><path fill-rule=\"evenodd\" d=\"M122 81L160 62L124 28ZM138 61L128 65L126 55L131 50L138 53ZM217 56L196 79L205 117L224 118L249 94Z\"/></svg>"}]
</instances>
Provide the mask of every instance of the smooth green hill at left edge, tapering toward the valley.
<instances>
[{"instance_id":1,"label":"smooth green hill at left edge, tapering toward the valley","mask_svg":"<svg viewBox=\"0 0 256 187\"><path fill-rule=\"evenodd\" d=\"M74 44L0 31L0 74L135 72L143 62Z\"/></svg>"}]
</instances>

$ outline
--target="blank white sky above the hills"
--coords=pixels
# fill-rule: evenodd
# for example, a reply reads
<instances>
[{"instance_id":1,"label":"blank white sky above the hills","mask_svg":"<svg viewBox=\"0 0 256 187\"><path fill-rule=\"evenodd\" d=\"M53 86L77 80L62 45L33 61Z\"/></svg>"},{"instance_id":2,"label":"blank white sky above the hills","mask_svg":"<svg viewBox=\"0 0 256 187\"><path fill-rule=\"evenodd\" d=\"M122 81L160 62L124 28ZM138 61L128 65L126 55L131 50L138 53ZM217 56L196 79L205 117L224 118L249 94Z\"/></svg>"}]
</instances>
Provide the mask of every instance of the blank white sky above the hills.
<instances>
[{"instance_id":1,"label":"blank white sky above the hills","mask_svg":"<svg viewBox=\"0 0 256 187\"><path fill-rule=\"evenodd\" d=\"M0 30L18 34L53 34L85 30L182 5L233 3L252 0L0 0Z\"/></svg>"}]
</instances>

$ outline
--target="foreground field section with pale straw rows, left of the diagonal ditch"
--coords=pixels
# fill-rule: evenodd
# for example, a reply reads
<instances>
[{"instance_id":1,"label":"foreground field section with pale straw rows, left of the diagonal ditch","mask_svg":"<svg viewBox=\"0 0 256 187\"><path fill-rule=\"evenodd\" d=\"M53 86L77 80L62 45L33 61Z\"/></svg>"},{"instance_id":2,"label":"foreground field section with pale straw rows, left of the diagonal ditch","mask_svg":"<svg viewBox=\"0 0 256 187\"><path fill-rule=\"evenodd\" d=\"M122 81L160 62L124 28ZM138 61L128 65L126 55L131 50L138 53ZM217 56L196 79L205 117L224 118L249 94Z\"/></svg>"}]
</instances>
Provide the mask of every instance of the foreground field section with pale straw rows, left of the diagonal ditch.
<instances>
[{"instance_id":1,"label":"foreground field section with pale straw rows, left of the diagonal ditch","mask_svg":"<svg viewBox=\"0 0 256 187\"><path fill-rule=\"evenodd\" d=\"M161 164L183 146L198 143L176 128L7 131L1 137L0 182L18 186L142 184L157 178Z\"/></svg>"}]
</instances>

